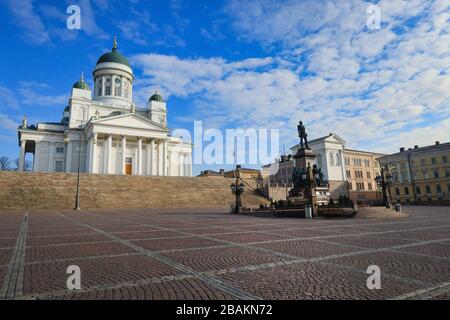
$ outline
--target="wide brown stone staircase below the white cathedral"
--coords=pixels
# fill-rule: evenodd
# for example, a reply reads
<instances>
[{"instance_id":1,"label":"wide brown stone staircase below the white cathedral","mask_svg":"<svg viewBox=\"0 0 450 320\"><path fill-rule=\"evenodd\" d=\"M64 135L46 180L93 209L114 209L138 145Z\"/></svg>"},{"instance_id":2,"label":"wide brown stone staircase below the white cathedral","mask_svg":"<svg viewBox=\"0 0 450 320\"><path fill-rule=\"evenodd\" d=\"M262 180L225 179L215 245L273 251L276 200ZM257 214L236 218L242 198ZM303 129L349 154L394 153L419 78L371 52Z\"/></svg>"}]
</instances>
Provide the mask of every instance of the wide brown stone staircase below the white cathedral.
<instances>
[{"instance_id":1,"label":"wide brown stone staircase below the white cathedral","mask_svg":"<svg viewBox=\"0 0 450 320\"><path fill-rule=\"evenodd\" d=\"M0 210L71 209L76 174L0 172ZM223 177L146 177L81 174L80 203L93 208L229 208L233 179ZM244 206L268 201L244 192Z\"/></svg>"}]
</instances>

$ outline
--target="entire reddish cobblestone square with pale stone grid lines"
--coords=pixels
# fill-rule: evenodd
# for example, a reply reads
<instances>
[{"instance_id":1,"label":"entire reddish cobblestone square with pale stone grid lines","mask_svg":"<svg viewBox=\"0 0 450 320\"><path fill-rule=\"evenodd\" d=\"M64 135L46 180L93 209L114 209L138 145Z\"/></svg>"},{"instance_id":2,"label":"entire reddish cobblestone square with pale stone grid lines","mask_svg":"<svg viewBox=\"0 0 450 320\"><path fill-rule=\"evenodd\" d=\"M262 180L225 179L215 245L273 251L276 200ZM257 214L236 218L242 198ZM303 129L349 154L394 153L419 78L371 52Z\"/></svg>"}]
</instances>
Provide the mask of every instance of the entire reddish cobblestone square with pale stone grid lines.
<instances>
[{"instance_id":1,"label":"entire reddish cobblestone square with pale stone grid lines","mask_svg":"<svg viewBox=\"0 0 450 320\"><path fill-rule=\"evenodd\" d=\"M0 298L449 299L450 209L401 219L217 209L0 212ZM393 213L395 214L395 213ZM69 266L81 289L68 290ZM381 289L366 270L381 271Z\"/></svg>"}]
</instances>

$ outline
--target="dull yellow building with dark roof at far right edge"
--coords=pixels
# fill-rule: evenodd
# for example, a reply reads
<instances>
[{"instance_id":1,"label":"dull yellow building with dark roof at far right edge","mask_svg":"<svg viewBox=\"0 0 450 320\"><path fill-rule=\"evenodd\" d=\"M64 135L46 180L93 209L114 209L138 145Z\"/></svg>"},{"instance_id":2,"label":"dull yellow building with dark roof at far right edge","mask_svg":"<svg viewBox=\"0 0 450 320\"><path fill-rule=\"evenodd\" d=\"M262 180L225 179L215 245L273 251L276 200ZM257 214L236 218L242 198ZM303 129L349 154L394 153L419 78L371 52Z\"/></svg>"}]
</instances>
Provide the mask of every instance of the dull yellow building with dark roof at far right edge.
<instances>
[{"instance_id":1,"label":"dull yellow building with dark roof at far right edge","mask_svg":"<svg viewBox=\"0 0 450 320\"><path fill-rule=\"evenodd\" d=\"M450 142L405 150L378 160L392 176L394 202L450 203Z\"/></svg>"}]
</instances>

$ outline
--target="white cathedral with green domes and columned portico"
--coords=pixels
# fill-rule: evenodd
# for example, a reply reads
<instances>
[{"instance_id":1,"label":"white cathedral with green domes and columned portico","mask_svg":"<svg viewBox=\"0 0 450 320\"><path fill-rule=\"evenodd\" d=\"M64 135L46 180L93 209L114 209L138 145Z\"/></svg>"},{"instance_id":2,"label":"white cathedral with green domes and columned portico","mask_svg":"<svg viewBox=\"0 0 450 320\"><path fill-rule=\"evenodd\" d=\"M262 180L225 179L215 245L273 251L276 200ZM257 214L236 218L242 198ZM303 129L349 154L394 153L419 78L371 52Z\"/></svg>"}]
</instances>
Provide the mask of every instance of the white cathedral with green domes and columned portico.
<instances>
[{"instance_id":1,"label":"white cathedral with green domes and columned portico","mask_svg":"<svg viewBox=\"0 0 450 320\"><path fill-rule=\"evenodd\" d=\"M117 50L102 55L93 71L94 88L83 75L72 88L59 123L18 128L19 170L33 154L34 172L81 172L191 176L192 144L171 136L163 97L147 108L133 103L133 70Z\"/></svg>"}]
</instances>

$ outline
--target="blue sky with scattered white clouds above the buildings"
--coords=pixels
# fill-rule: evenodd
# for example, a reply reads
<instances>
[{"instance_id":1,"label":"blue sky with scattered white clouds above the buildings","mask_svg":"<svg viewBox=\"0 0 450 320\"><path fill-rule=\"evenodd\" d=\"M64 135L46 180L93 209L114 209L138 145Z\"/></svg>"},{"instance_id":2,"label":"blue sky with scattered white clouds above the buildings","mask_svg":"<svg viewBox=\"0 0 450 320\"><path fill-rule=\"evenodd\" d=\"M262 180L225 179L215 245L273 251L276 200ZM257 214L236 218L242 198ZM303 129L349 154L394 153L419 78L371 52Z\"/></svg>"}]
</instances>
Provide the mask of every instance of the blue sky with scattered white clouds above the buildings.
<instances>
[{"instance_id":1,"label":"blue sky with scattered white clouds above the buildings","mask_svg":"<svg viewBox=\"0 0 450 320\"><path fill-rule=\"evenodd\" d=\"M280 129L288 148L303 120L311 138L378 152L450 140L448 0L3 0L0 34L0 154L14 158L22 116L60 121L114 34L135 102L158 88L173 129Z\"/></svg>"}]
</instances>

